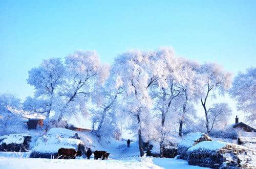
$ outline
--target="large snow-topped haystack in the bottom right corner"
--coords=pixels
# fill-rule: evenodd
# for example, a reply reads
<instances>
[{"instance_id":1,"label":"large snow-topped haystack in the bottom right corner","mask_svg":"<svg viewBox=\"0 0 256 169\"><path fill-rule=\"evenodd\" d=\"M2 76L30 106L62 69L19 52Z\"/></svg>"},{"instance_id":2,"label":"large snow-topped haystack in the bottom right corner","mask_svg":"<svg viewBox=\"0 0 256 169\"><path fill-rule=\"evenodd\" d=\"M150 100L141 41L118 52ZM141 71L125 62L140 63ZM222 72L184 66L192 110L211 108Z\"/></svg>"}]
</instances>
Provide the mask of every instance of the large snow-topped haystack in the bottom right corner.
<instances>
[{"instance_id":1,"label":"large snow-topped haystack in the bottom right corner","mask_svg":"<svg viewBox=\"0 0 256 169\"><path fill-rule=\"evenodd\" d=\"M187 150L188 163L211 168L252 168L253 150L221 141L202 141Z\"/></svg>"}]
</instances>

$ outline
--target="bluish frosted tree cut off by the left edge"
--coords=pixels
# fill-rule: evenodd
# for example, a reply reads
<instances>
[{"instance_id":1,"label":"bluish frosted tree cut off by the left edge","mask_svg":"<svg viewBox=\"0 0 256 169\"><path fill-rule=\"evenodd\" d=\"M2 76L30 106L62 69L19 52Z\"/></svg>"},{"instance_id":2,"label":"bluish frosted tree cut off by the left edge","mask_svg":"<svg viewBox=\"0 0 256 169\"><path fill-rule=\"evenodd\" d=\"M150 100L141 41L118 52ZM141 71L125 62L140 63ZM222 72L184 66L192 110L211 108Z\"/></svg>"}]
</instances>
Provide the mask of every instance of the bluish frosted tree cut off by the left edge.
<instances>
[{"instance_id":1,"label":"bluish frosted tree cut off by the left edge","mask_svg":"<svg viewBox=\"0 0 256 169\"><path fill-rule=\"evenodd\" d=\"M27 129L20 113L20 100L15 95L0 95L0 135L22 133Z\"/></svg>"}]
</instances>

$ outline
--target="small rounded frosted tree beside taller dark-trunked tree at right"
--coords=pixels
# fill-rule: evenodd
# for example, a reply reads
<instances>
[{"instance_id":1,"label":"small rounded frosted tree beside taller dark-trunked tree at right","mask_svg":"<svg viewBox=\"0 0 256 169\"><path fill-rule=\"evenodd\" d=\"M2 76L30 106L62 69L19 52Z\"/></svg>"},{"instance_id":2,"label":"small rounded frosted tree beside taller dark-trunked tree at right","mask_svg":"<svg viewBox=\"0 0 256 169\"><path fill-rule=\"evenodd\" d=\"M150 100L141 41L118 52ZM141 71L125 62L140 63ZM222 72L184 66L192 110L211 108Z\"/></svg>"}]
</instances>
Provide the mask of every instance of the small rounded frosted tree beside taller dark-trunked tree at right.
<instances>
[{"instance_id":1,"label":"small rounded frosted tree beside taller dark-trunked tree at right","mask_svg":"<svg viewBox=\"0 0 256 169\"><path fill-rule=\"evenodd\" d=\"M214 127L222 126L222 124L227 123L232 111L227 103L216 103L212 105L212 108L209 108L207 112L210 133Z\"/></svg>"}]
</instances>

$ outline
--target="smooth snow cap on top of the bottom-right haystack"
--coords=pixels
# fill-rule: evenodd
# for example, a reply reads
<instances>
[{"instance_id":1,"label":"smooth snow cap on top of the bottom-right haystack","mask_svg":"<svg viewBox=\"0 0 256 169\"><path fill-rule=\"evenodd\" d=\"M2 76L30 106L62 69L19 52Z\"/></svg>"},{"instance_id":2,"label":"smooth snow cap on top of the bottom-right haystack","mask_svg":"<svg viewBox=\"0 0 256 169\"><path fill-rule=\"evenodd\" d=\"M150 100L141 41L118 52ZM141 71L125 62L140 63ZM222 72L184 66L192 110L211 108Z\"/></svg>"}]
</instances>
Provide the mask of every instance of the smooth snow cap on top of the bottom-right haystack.
<instances>
[{"instance_id":1,"label":"smooth snow cap on top of the bottom-right haystack","mask_svg":"<svg viewBox=\"0 0 256 169\"><path fill-rule=\"evenodd\" d=\"M190 147L187 150L187 152L192 152L192 151L199 150L199 149L215 151L215 150L219 150L221 148L226 147L227 144L228 143L221 142L221 141L202 141L202 142L199 142L198 144L196 144L195 146Z\"/></svg>"}]
</instances>

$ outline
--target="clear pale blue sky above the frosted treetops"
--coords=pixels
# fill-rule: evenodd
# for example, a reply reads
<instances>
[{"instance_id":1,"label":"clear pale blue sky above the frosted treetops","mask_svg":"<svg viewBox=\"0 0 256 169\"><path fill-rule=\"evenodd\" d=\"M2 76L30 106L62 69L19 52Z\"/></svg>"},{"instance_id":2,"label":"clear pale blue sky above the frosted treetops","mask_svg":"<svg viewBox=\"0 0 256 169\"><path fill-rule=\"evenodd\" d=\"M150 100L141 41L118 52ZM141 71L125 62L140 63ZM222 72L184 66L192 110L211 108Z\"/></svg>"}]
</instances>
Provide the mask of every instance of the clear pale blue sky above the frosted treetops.
<instances>
[{"instance_id":1,"label":"clear pale blue sky above the frosted treetops","mask_svg":"<svg viewBox=\"0 0 256 169\"><path fill-rule=\"evenodd\" d=\"M256 63L256 1L0 1L0 92L33 94L42 59L96 50L104 63L130 49L174 47L236 74Z\"/></svg>"}]
</instances>

